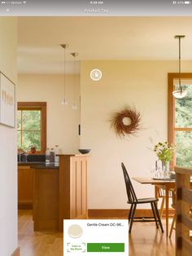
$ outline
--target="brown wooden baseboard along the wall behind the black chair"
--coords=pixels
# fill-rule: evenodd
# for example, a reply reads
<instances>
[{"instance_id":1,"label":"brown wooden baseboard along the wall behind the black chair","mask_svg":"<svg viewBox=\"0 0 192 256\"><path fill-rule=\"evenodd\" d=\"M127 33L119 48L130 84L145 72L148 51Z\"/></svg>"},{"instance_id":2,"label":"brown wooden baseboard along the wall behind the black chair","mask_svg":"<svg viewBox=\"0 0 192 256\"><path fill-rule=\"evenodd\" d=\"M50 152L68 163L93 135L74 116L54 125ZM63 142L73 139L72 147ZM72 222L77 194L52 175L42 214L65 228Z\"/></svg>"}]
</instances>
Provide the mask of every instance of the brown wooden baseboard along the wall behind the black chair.
<instances>
[{"instance_id":1,"label":"brown wooden baseboard along the wall behind the black chair","mask_svg":"<svg viewBox=\"0 0 192 256\"><path fill-rule=\"evenodd\" d=\"M175 213L174 209L169 209L169 216ZM89 209L88 218L128 218L129 209ZM135 217L152 217L151 209L137 209ZM163 217L165 217L165 210Z\"/></svg>"}]
</instances>

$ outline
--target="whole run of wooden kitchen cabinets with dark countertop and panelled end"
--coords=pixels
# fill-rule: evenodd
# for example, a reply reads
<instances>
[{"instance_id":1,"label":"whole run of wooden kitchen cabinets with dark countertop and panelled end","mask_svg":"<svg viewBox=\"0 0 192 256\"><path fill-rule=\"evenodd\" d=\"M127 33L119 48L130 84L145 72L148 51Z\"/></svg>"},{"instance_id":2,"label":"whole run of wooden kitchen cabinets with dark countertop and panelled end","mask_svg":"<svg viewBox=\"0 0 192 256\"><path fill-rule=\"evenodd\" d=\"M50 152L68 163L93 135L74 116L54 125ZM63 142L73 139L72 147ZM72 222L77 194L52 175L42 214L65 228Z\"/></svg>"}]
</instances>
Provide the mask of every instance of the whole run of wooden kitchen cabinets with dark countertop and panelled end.
<instances>
[{"instance_id":1,"label":"whole run of wooden kitchen cabinets with dark countertop and panelled end","mask_svg":"<svg viewBox=\"0 0 192 256\"><path fill-rule=\"evenodd\" d=\"M87 218L88 159L59 154L59 162L18 162L18 207L33 209L34 231L63 232L63 219Z\"/></svg>"}]
</instances>

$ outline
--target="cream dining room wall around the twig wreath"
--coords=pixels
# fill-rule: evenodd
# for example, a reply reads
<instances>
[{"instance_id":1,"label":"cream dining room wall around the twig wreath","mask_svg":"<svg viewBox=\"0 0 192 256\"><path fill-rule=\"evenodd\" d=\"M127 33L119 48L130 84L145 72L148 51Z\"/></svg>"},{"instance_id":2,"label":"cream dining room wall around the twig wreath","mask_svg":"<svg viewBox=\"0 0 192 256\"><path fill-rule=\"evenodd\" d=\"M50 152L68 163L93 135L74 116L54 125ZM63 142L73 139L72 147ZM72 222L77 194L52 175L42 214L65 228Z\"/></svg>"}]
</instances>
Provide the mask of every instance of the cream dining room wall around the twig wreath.
<instances>
[{"instance_id":1,"label":"cream dining room wall around the twig wreath","mask_svg":"<svg viewBox=\"0 0 192 256\"><path fill-rule=\"evenodd\" d=\"M99 68L103 78L90 79ZM183 72L192 62L182 63ZM177 62L83 61L81 63L81 148L91 148L89 164L89 209L126 208L121 161L130 177L150 176L155 154L148 148L167 139L168 73L177 72ZM135 137L116 137L109 118L125 104L142 113L142 130ZM157 135L157 133L159 135ZM153 196L151 185L133 181L138 197ZM142 208L144 208L142 206Z\"/></svg>"}]
</instances>

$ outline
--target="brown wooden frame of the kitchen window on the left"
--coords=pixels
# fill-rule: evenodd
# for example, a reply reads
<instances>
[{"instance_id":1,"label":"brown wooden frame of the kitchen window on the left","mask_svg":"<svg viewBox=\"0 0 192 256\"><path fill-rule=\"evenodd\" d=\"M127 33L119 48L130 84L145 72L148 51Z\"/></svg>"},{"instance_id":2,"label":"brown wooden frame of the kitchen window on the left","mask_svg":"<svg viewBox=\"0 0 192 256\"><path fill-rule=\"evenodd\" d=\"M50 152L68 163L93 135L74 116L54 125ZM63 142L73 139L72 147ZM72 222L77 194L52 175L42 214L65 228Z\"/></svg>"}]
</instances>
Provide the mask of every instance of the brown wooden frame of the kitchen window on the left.
<instances>
[{"instance_id":1,"label":"brown wooden frame of the kitchen window on the left","mask_svg":"<svg viewBox=\"0 0 192 256\"><path fill-rule=\"evenodd\" d=\"M36 154L46 153L46 102L18 102L17 110L41 110L41 151ZM30 152L28 152L30 154Z\"/></svg>"}]
</instances>

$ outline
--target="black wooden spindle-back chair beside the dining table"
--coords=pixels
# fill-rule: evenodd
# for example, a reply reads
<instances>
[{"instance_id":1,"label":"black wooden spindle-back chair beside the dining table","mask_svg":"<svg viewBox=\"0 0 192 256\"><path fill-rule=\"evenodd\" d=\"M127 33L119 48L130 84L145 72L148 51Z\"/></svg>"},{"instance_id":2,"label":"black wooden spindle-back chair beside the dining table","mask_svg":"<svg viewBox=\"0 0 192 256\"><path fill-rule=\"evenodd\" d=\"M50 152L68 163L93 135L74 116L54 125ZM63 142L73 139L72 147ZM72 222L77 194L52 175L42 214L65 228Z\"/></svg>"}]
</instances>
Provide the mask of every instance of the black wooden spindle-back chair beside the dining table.
<instances>
[{"instance_id":1,"label":"black wooden spindle-back chair beside the dining table","mask_svg":"<svg viewBox=\"0 0 192 256\"><path fill-rule=\"evenodd\" d=\"M155 197L137 199L137 196L134 192L133 185L132 185L131 180L129 178L129 174L128 174L125 166L124 166L124 163L121 163L121 167L122 167L123 172L124 172L124 182L125 182L127 196L128 196L127 203L129 205L131 205L130 211L129 211L129 217L128 217L129 218L129 233L132 230L133 221L138 221L135 218L135 211L136 211L136 208L137 208L137 204L148 204L148 203L151 204L151 209L152 209L154 218L153 218L153 220L151 220L151 218L146 218L146 217L142 218L142 219L140 218L141 219L140 221L144 221L144 222L153 221L153 222L156 223L156 227L159 228L159 226L160 226L161 231L164 232L164 228L163 228L163 225L161 223L159 211L157 209L157 204L156 204L158 199L155 198Z\"/></svg>"}]
</instances>

